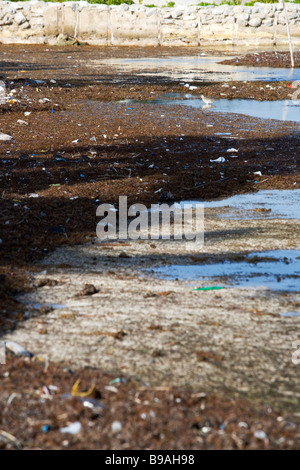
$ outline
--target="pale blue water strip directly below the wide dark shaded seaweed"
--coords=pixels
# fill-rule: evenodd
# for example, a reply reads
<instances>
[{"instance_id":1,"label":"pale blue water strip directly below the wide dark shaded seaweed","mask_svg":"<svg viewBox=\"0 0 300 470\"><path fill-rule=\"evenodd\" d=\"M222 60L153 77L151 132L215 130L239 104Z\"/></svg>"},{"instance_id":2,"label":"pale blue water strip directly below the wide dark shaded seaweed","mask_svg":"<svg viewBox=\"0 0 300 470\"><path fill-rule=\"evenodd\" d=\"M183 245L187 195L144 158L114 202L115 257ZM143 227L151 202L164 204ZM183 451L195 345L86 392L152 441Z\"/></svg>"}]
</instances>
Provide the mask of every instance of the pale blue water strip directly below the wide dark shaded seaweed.
<instances>
[{"instance_id":1,"label":"pale blue water strip directly below the wide dark shaded seaweed","mask_svg":"<svg viewBox=\"0 0 300 470\"><path fill-rule=\"evenodd\" d=\"M216 201L182 201L180 204L204 204L207 208L224 208L219 214L231 219L299 219L300 189L261 190L254 194L238 194ZM229 206L229 207L227 207ZM270 212L260 212L266 210Z\"/></svg>"}]
</instances>

